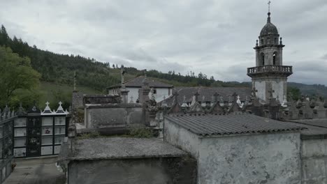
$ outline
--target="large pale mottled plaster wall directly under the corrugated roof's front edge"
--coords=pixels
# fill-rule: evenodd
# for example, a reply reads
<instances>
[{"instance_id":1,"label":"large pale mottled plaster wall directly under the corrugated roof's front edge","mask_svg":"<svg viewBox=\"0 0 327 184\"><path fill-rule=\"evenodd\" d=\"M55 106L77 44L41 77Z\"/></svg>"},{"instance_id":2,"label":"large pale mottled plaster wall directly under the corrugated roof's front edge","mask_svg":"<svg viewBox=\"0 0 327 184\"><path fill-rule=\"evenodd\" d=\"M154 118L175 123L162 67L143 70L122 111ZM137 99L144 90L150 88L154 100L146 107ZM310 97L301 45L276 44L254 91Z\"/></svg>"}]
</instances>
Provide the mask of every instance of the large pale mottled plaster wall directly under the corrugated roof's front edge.
<instances>
[{"instance_id":1,"label":"large pale mottled plaster wall directly under the corrugated roof's front edge","mask_svg":"<svg viewBox=\"0 0 327 184\"><path fill-rule=\"evenodd\" d=\"M300 183L300 133L203 138L198 183Z\"/></svg>"}]
</instances>

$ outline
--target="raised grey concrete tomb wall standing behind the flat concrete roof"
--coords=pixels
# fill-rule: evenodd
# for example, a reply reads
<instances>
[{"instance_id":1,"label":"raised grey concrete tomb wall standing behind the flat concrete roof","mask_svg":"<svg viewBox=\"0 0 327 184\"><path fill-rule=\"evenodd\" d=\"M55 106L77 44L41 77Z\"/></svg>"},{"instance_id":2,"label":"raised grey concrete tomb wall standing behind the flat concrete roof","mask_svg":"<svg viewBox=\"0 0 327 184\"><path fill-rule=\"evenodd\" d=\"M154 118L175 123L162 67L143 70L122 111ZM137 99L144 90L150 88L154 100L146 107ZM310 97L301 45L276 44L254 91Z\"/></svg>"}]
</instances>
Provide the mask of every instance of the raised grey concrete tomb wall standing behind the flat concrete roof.
<instances>
[{"instance_id":1,"label":"raised grey concrete tomb wall standing behind the flat concrete roof","mask_svg":"<svg viewBox=\"0 0 327 184\"><path fill-rule=\"evenodd\" d=\"M107 105L108 106L108 105ZM131 124L144 124L143 108L140 105L117 107L90 106L85 108L86 128L117 128Z\"/></svg>"}]
</instances>

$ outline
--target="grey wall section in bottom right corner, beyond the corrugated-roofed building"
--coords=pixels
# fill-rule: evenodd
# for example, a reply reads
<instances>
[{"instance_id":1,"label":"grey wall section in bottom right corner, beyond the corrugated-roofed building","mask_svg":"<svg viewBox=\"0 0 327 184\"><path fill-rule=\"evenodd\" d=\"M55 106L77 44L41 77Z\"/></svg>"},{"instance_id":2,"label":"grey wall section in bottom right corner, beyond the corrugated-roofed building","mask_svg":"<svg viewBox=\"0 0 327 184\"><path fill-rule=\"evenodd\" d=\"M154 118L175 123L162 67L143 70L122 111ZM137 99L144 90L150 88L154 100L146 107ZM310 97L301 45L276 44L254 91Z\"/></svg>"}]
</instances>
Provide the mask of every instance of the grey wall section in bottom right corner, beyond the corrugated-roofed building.
<instances>
[{"instance_id":1,"label":"grey wall section in bottom right corner, beyond the corrugated-roofed building","mask_svg":"<svg viewBox=\"0 0 327 184\"><path fill-rule=\"evenodd\" d=\"M302 141L302 183L327 183L327 139Z\"/></svg>"}]
</instances>

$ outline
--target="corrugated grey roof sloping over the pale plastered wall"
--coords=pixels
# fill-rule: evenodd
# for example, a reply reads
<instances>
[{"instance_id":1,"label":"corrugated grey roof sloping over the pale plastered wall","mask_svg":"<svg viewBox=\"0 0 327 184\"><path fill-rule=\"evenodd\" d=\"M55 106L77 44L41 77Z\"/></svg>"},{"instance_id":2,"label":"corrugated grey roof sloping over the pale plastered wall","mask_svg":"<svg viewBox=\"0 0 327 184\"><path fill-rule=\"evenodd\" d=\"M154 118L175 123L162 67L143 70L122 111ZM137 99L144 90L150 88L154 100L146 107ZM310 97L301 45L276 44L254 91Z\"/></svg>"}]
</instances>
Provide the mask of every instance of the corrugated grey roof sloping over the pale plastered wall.
<instances>
[{"instance_id":1,"label":"corrugated grey roof sloping over the pale plastered wall","mask_svg":"<svg viewBox=\"0 0 327 184\"><path fill-rule=\"evenodd\" d=\"M300 125L275 121L253 114L167 115L168 120L200 136L284 132L306 129Z\"/></svg>"}]
</instances>

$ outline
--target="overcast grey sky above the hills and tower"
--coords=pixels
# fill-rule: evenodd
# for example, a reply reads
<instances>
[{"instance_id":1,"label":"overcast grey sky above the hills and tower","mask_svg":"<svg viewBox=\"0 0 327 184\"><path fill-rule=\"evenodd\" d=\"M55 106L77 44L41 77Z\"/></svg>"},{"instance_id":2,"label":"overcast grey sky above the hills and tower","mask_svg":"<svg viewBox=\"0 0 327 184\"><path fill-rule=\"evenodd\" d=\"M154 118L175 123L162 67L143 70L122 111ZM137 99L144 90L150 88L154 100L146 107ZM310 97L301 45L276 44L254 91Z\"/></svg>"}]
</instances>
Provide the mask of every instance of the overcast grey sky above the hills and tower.
<instances>
[{"instance_id":1,"label":"overcast grey sky above the hills and tower","mask_svg":"<svg viewBox=\"0 0 327 184\"><path fill-rule=\"evenodd\" d=\"M291 82L327 85L327 1L272 0ZM266 0L0 0L0 24L61 54L162 72L250 81Z\"/></svg>"}]
</instances>

